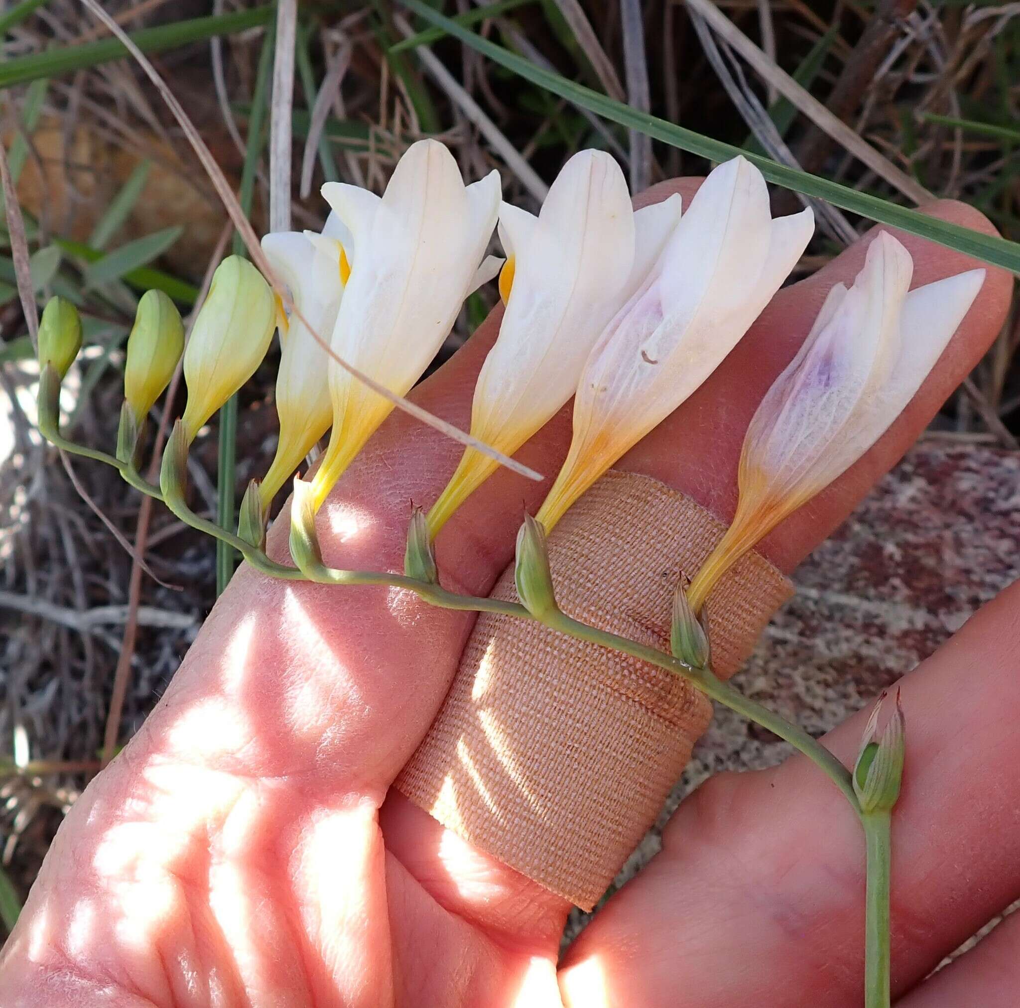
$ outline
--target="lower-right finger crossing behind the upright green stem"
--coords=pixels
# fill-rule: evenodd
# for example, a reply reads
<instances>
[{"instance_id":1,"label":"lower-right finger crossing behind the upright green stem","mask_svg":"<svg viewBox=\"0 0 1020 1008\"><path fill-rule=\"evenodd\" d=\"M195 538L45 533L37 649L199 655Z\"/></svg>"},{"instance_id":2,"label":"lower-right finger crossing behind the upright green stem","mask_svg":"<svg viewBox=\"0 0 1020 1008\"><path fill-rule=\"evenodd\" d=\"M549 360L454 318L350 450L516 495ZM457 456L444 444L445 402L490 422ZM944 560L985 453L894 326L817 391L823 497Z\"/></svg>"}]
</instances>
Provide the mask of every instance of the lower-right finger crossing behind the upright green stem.
<instances>
[{"instance_id":1,"label":"lower-right finger crossing behind the upright green stem","mask_svg":"<svg viewBox=\"0 0 1020 1008\"><path fill-rule=\"evenodd\" d=\"M902 681L897 993L1020 896L1018 647L1015 585ZM866 718L862 711L824 740L846 763ZM849 1008L861 1003L863 951L860 825L832 784L797 758L775 770L713 777L681 805L662 853L570 949L561 985L568 1004L585 1008ZM583 987L595 973L601 1000Z\"/></svg>"}]
</instances>

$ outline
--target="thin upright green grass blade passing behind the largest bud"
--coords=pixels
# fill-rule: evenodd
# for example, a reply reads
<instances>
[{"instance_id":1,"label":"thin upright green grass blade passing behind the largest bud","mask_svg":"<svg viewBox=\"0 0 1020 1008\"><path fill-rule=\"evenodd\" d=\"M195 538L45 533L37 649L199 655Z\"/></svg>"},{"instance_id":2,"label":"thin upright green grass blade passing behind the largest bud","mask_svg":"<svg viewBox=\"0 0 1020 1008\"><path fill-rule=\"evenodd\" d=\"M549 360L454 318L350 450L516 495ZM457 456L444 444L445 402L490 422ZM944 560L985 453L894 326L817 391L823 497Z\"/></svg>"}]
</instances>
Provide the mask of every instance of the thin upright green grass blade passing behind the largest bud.
<instances>
[{"instance_id":1,"label":"thin upright green grass blade passing behind the largest bud","mask_svg":"<svg viewBox=\"0 0 1020 1008\"><path fill-rule=\"evenodd\" d=\"M255 169L258 167L262 149L265 146L266 110L269 107L269 80L272 75L272 58L275 48L275 31L270 29L265 34L262 52L258 61L258 72L255 77L255 92L252 95L252 110L248 117L248 140L245 147L245 163L241 169L241 188L238 191L238 201L246 215L252 211L252 199L255 195ZM247 255L245 243L240 235L234 236L234 253ZM219 411L219 444L216 461L216 523L227 532L237 527L237 508L235 494L237 492L237 453L238 453L238 397L231 396ZM216 540L216 595L222 595L234 575L237 563L237 551L234 547Z\"/></svg>"}]
</instances>

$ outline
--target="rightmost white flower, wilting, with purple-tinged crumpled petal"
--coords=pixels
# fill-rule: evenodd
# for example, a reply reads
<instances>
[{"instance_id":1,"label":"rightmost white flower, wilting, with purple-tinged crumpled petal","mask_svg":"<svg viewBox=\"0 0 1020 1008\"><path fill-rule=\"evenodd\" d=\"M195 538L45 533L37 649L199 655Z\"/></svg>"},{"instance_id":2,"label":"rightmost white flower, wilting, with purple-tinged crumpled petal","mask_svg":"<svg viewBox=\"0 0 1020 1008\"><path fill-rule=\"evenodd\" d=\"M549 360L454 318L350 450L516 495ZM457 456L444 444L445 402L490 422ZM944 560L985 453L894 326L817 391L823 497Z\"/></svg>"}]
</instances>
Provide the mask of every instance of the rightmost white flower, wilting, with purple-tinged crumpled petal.
<instances>
[{"instance_id":1,"label":"rightmost white flower, wilting, with purple-tinged crumpled petal","mask_svg":"<svg viewBox=\"0 0 1020 1008\"><path fill-rule=\"evenodd\" d=\"M885 433L984 282L984 270L972 269L908 294L913 270L910 253L882 232L854 286L829 291L748 427L736 514L691 587L696 609L736 560Z\"/></svg>"}]
</instances>

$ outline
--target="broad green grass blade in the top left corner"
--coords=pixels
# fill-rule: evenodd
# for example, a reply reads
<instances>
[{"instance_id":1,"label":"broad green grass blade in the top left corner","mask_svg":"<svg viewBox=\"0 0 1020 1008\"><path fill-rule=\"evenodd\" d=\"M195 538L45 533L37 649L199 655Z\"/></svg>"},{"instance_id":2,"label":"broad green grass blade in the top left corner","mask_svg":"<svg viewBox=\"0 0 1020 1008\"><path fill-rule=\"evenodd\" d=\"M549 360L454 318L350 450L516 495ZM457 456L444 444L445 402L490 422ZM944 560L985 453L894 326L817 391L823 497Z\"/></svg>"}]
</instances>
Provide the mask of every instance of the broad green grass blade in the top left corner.
<instances>
[{"instance_id":1,"label":"broad green grass blade in the top left corner","mask_svg":"<svg viewBox=\"0 0 1020 1008\"><path fill-rule=\"evenodd\" d=\"M132 41L142 52L160 52L191 42L202 42L214 35L232 35L245 29L265 24L275 13L273 5L241 10L233 14L194 17L186 21L146 28L131 34ZM18 56L0 64L0 89L28 84L42 78L58 77L74 70L121 59L128 50L116 39L100 39L76 46L62 46L45 52Z\"/></svg>"}]
</instances>

